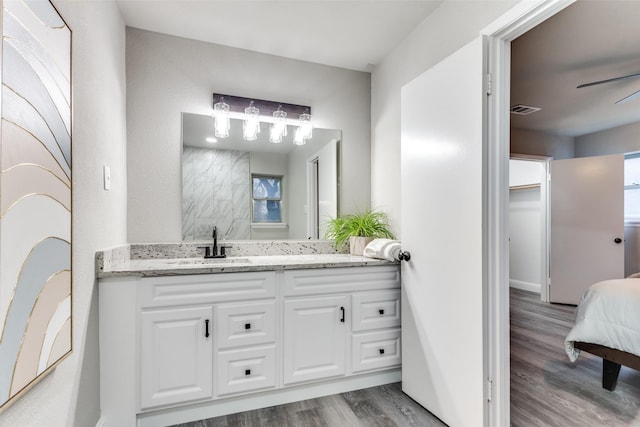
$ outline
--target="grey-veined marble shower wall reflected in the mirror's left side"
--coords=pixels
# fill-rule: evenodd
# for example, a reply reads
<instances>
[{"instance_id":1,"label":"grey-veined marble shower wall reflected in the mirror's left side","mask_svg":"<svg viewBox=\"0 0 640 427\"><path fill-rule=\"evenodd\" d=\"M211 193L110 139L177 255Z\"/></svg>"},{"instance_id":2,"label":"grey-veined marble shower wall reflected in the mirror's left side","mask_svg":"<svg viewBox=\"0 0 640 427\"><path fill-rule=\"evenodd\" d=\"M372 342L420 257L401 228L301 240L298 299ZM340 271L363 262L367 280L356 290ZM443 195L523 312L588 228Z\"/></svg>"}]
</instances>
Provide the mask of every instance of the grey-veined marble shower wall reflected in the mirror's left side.
<instances>
[{"instance_id":1,"label":"grey-veined marble shower wall reflected in the mirror's left side","mask_svg":"<svg viewBox=\"0 0 640 427\"><path fill-rule=\"evenodd\" d=\"M250 239L249 153L185 146L182 156L183 240L209 240L214 225L220 239Z\"/></svg>"}]
</instances>

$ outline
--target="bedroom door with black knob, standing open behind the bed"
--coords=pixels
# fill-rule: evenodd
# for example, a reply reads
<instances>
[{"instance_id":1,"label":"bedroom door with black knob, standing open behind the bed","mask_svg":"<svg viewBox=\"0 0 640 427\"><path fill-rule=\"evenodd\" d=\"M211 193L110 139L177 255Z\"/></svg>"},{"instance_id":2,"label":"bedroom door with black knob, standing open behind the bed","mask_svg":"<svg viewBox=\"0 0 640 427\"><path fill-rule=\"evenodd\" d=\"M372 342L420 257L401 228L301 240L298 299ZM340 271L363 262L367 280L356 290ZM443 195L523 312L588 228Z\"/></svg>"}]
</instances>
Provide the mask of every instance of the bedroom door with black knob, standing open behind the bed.
<instances>
[{"instance_id":1,"label":"bedroom door with black knob, standing open behind the bed","mask_svg":"<svg viewBox=\"0 0 640 427\"><path fill-rule=\"evenodd\" d=\"M549 300L578 304L590 285L622 277L624 156L554 160Z\"/></svg>"}]
</instances>

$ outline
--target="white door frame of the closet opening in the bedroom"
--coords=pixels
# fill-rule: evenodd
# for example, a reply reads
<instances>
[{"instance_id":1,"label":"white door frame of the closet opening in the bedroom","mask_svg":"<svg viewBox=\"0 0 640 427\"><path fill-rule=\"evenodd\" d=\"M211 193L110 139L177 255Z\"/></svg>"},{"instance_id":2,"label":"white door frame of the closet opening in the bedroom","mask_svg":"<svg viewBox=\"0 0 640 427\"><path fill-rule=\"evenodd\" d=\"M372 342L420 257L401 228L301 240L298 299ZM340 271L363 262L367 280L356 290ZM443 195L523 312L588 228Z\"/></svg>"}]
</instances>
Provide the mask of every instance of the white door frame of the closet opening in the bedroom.
<instances>
[{"instance_id":1,"label":"white door frame of the closet opening in the bedroom","mask_svg":"<svg viewBox=\"0 0 640 427\"><path fill-rule=\"evenodd\" d=\"M516 154L512 153L509 157L513 160L525 160L528 162L538 162L543 169L543 179L540 182L540 301L549 302L549 285L550 285L550 271L549 271L549 244L550 244L550 230L551 230L551 215L549 205L549 181L551 172L551 161L553 157L548 156L536 156L533 154Z\"/></svg>"}]
</instances>

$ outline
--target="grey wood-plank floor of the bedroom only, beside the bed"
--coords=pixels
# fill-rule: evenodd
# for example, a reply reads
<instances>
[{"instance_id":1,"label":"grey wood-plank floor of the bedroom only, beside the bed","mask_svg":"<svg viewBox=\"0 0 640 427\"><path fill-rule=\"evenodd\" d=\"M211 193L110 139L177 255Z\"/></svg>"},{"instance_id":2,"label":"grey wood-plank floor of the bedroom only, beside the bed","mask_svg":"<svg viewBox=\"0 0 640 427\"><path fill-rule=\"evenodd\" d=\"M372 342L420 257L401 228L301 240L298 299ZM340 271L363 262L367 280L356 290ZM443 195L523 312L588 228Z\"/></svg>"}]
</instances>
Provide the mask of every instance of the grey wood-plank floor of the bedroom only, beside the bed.
<instances>
[{"instance_id":1,"label":"grey wood-plank floor of the bedroom only, beside the bed","mask_svg":"<svg viewBox=\"0 0 640 427\"><path fill-rule=\"evenodd\" d=\"M602 388L602 359L571 363L564 338L574 306L511 290L511 425L639 426L640 372L622 367L616 390Z\"/></svg>"}]
</instances>

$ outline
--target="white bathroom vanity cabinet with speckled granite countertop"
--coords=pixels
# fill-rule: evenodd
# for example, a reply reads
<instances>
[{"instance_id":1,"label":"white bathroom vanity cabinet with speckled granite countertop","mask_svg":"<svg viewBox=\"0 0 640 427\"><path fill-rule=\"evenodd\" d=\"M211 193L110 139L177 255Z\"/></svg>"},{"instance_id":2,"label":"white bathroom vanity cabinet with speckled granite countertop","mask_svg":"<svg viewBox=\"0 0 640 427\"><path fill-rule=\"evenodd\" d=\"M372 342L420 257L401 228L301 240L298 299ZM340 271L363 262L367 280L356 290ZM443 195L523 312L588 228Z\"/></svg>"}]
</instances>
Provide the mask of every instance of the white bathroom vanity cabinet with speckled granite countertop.
<instances>
[{"instance_id":1,"label":"white bathroom vanity cabinet with speckled granite countertop","mask_svg":"<svg viewBox=\"0 0 640 427\"><path fill-rule=\"evenodd\" d=\"M400 380L396 263L234 249L217 260L157 248L132 257L129 246L97 255L105 426L166 426Z\"/></svg>"}]
</instances>

